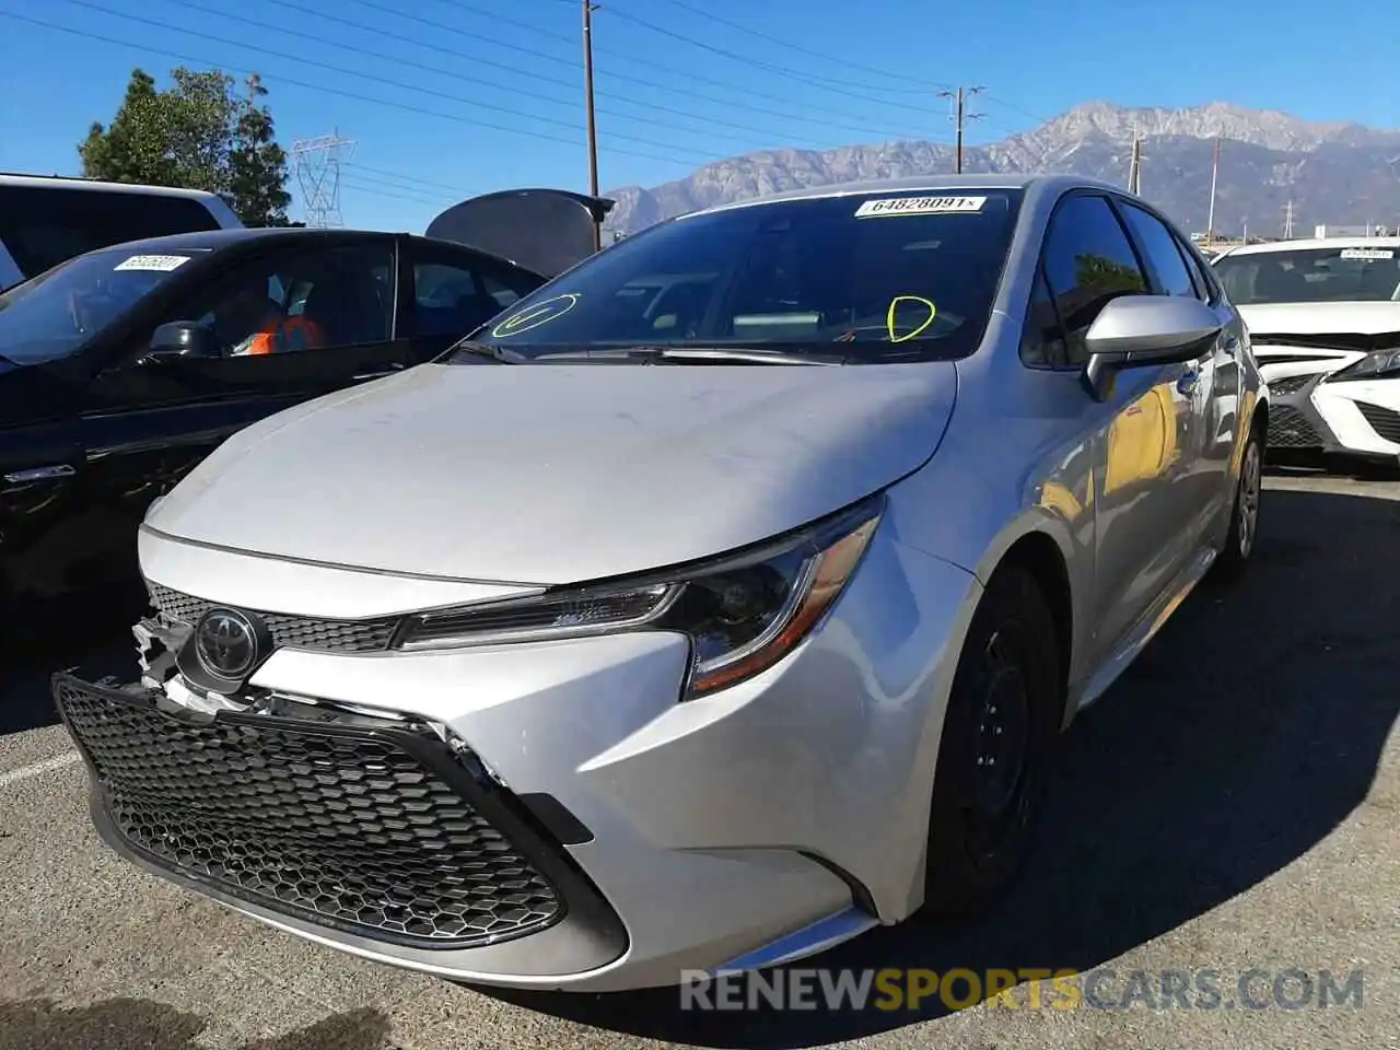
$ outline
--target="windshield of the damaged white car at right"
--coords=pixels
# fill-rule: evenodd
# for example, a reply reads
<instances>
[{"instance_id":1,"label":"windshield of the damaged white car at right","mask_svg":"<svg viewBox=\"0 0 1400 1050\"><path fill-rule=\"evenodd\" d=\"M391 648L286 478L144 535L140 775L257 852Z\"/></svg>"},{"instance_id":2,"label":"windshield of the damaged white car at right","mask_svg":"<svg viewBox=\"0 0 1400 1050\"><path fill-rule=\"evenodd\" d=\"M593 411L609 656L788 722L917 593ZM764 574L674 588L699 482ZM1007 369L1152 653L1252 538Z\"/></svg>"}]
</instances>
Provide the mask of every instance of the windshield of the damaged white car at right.
<instances>
[{"instance_id":1,"label":"windshield of the damaged white car at right","mask_svg":"<svg viewBox=\"0 0 1400 1050\"><path fill-rule=\"evenodd\" d=\"M1226 255L1215 272L1236 307L1400 301L1400 249L1298 248Z\"/></svg>"}]
</instances>

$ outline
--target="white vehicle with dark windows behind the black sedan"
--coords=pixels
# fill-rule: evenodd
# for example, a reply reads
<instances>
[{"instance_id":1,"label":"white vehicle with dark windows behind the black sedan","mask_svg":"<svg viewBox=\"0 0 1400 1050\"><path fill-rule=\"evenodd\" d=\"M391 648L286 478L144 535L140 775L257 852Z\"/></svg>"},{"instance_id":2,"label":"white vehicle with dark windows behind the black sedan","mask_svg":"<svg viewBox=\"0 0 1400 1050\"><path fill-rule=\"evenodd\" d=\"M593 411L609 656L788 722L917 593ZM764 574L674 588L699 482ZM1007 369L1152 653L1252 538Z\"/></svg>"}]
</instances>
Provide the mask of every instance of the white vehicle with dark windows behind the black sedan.
<instances>
[{"instance_id":1,"label":"white vehicle with dark windows behind the black sedan","mask_svg":"<svg viewBox=\"0 0 1400 1050\"><path fill-rule=\"evenodd\" d=\"M241 227L217 193L0 174L0 290L95 248Z\"/></svg>"}]
</instances>

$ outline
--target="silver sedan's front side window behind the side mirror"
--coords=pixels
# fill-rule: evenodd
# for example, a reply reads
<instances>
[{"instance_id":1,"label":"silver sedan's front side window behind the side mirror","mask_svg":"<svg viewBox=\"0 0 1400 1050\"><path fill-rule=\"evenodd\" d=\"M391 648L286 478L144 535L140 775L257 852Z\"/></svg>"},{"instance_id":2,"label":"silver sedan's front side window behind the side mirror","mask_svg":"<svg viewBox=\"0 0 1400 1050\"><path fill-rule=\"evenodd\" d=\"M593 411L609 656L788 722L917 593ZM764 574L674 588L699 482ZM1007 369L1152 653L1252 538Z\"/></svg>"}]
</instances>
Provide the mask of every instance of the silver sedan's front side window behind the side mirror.
<instances>
[{"instance_id":1,"label":"silver sedan's front side window behind the side mirror","mask_svg":"<svg viewBox=\"0 0 1400 1050\"><path fill-rule=\"evenodd\" d=\"M1105 197L1075 195L1056 209L1042 256L1065 330L1070 364L1084 364L1089 354L1084 336L1117 295L1147 293L1147 279L1133 244Z\"/></svg>"}]
</instances>

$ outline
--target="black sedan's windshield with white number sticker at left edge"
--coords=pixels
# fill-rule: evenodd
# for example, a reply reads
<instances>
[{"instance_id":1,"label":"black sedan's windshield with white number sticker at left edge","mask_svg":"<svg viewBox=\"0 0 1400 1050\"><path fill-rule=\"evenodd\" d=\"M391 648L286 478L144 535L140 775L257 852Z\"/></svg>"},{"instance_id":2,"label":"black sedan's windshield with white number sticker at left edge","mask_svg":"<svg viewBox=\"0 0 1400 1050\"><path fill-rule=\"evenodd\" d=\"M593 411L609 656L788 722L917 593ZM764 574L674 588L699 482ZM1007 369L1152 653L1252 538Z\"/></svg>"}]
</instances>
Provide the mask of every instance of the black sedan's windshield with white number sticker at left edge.
<instances>
[{"instance_id":1,"label":"black sedan's windshield with white number sticker at left edge","mask_svg":"<svg viewBox=\"0 0 1400 1050\"><path fill-rule=\"evenodd\" d=\"M67 357L192 258L92 252L0 294L0 357L15 364Z\"/></svg>"}]
</instances>

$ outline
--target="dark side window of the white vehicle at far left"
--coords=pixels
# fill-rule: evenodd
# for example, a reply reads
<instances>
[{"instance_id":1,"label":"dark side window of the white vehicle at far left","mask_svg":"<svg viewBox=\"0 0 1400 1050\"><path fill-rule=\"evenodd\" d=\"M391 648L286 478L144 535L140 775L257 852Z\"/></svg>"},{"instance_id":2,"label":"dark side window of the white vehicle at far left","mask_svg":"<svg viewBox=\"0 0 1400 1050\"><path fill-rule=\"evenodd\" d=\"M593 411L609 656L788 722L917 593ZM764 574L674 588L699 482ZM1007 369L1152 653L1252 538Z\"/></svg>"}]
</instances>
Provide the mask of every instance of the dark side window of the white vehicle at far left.
<instances>
[{"instance_id":1,"label":"dark side window of the white vehicle at far left","mask_svg":"<svg viewBox=\"0 0 1400 1050\"><path fill-rule=\"evenodd\" d=\"M98 248L217 228L209 209L190 197L0 186L0 241L25 277Z\"/></svg>"}]
</instances>

